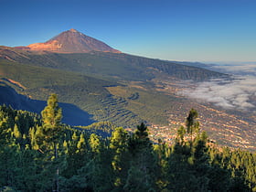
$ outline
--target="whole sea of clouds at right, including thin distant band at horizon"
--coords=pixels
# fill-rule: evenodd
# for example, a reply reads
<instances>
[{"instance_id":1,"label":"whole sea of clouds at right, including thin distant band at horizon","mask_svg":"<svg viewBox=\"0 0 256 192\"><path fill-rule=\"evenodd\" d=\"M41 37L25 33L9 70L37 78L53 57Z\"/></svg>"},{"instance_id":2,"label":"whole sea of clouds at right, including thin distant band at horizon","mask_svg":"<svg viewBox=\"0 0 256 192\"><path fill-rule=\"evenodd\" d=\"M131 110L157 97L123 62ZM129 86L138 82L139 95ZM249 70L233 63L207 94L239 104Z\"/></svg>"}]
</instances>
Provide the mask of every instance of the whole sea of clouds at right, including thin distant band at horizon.
<instances>
[{"instance_id":1,"label":"whole sea of clouds at right, including thin distant band at horizon","mask_svg":"<svg viewBox=\"0 0 256 192\"><path fill-rule=\"evenodd\" d=\"M219 65L212 69L232 74L232 78L200 82L181 94L225 109L256 109L256 64Z\"/></svg>"}]
</instances>

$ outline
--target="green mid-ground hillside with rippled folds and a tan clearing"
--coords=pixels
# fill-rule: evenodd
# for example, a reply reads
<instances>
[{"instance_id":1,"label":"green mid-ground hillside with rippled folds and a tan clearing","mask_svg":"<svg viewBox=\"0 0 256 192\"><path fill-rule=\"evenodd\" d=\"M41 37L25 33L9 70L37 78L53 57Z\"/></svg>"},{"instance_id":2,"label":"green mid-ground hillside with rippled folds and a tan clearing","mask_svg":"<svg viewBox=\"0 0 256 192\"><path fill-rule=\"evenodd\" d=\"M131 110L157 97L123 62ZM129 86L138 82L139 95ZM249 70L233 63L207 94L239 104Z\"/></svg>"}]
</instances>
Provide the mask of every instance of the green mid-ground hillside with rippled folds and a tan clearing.
<instances>
[{"instance_id":1,"label":"green mid-ground hillside with rippled folds and a tan clearing","mask_svg":"<svg viewBox=\"0 0 256 192\"><path fill-rule=\"evenodd\" d=\"M45 101L55 92L59 101L89 112L95 121L124 127L147 123L168 124L167 111L181 99L156 92L148 82L118 83L61 69L0 61L0 78L21 94ZM14 99L15 101L15 99Z\"/></svg>"}]
</instances>

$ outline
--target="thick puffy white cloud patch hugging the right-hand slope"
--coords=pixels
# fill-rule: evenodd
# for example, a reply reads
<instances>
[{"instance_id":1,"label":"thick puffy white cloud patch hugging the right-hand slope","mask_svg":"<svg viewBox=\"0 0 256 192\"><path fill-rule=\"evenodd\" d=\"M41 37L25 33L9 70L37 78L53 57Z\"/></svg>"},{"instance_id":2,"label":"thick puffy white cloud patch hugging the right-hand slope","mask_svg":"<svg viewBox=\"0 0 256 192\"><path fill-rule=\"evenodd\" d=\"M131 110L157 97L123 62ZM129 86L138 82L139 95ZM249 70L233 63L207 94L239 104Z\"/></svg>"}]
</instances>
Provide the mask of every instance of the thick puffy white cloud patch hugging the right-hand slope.
<instances>
[{"instance_id":1,"label":"thick puffy white cloud patch hugging the right-hand slope","mask_svg":"<svg viewBox=\"0 0 256 192\"><path fill-rule=\"evenodd\" d=\"M210 80L180 93L226 109L250 110L256 105L256 77L237 76L235 80Z\"/></svg>"}]
</instances>

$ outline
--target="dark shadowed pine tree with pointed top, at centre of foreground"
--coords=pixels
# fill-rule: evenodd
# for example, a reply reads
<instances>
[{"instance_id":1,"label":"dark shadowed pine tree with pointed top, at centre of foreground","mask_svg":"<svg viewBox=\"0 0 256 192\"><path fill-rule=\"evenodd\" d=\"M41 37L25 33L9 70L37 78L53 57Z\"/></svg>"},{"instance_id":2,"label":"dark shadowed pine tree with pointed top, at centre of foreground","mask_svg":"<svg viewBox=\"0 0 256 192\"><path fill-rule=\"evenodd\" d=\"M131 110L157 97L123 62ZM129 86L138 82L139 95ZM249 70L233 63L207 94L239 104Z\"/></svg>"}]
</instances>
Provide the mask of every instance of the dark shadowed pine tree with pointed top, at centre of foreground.
<instances>
[{"instance_id":1,"label":"dark shadowed pine tree with pointed top, at centre of foreground","mask_svg":"<svg viewBox=\"0 0 256 192\"><path fill-rule=\"evenodd\" d=\"M132 154L131 166L123 187L128 191L154 190L157 162L153 155L153 144L148 137L147 127L144 123L137 126L129 141L129 150Z\"/></svg>"}]
</instances>

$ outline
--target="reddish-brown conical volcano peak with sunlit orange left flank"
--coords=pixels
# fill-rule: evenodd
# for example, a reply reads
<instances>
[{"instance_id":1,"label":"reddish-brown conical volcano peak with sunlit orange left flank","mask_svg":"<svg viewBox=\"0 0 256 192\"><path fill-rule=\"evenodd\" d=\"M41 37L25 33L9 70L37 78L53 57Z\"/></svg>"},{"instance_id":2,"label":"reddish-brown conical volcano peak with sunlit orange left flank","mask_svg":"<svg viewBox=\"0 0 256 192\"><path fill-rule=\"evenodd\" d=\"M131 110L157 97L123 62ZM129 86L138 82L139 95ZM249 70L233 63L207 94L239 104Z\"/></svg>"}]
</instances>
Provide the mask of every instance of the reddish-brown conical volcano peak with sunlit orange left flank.
<instances>
[{"instance_id":1,"label":"reddish-brown conical volcano peak with sunlit orange left flank","mask_svg":"<svg viewBox=\"0 0 256 192\"><path fill-rule=\"evenodd\" d=\"M58 53L87 53L90 51L121 53L93 37L88 37L76 29L69 29L45 43L35 43L27 46L30 50L47 50Z\"/></svg>"}]
</instances>

